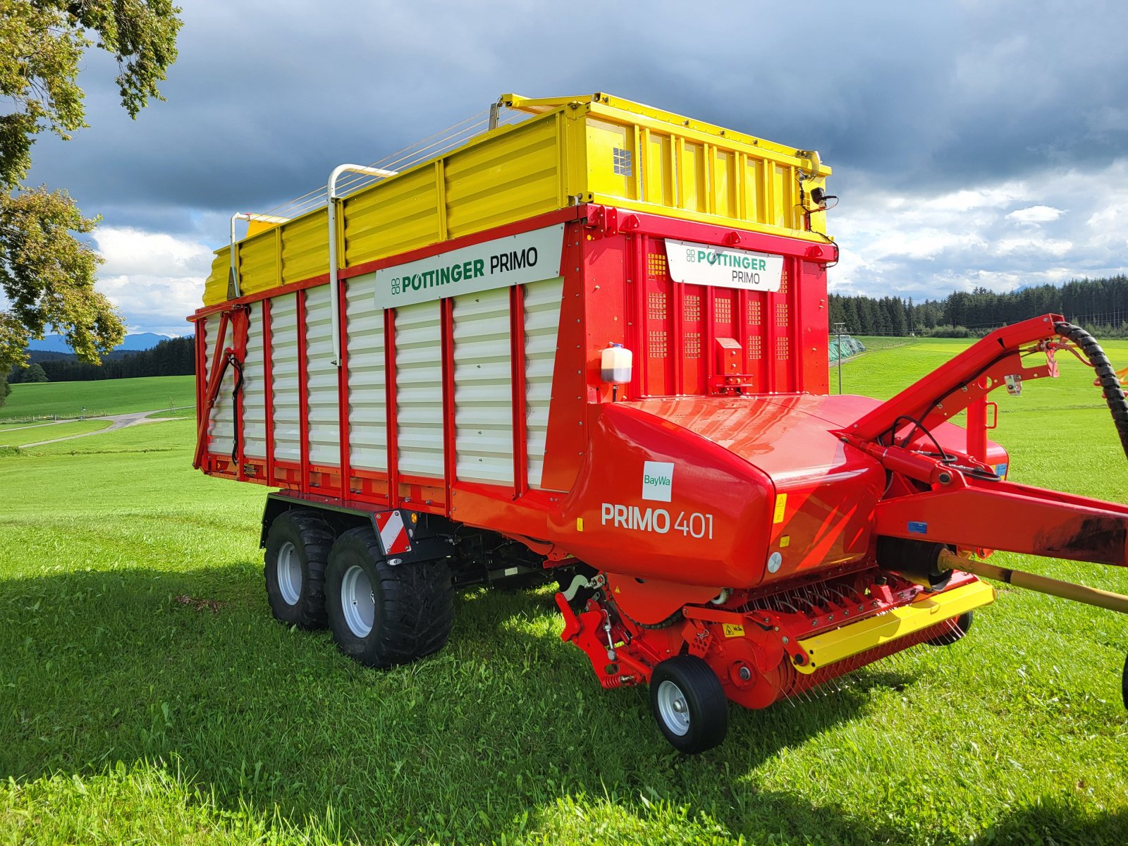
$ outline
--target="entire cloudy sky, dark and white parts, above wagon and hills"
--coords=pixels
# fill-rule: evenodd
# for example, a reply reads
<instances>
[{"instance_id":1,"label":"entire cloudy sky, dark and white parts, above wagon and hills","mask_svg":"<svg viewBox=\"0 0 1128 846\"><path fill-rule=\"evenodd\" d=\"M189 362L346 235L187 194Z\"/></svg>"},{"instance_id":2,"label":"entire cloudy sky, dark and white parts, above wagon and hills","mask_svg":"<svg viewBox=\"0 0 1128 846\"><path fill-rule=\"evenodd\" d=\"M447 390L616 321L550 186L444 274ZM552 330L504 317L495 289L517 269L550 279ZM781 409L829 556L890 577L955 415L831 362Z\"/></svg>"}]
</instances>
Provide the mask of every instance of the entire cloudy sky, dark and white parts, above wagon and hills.
<instances>
[{"instance_id":1,"label":"entire cloudy sky, dark and white parts, above wagon and hills","mask_svg":"<svg viewBox=\"0 0 1128 846\"><path fill-rule=\"evenodd\" d=\"M91 52L90 129L34 149L30 182L104 215L103 279L138 329L184 331L231 212L504 91L607 90L820 150L841 197L838 290L920 298L1126 265L1122 3L184 6L167 103L130 121Z\"/></svg>"}]
</instances>

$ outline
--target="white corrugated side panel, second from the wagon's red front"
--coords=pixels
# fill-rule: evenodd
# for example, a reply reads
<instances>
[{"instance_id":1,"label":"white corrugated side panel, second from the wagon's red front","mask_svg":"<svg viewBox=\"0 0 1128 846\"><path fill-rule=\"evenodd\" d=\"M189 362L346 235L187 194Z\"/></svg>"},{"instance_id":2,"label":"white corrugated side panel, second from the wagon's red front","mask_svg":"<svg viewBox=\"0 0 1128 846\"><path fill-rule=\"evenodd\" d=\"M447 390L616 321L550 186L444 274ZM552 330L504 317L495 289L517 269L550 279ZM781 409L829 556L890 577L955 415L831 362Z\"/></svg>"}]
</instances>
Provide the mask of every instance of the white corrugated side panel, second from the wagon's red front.
<instances>
[{"instance_id":1,"label":"white corrugated side panel, second from the wagon's red front","mask_svg":"<svg viewBox=\"0 0 1128 846\"><path fill-rule=\"evenodd\" d=\"M455 450L460 479L513 484L509 291L455 298Z\"/></svg>"}]
</instances>

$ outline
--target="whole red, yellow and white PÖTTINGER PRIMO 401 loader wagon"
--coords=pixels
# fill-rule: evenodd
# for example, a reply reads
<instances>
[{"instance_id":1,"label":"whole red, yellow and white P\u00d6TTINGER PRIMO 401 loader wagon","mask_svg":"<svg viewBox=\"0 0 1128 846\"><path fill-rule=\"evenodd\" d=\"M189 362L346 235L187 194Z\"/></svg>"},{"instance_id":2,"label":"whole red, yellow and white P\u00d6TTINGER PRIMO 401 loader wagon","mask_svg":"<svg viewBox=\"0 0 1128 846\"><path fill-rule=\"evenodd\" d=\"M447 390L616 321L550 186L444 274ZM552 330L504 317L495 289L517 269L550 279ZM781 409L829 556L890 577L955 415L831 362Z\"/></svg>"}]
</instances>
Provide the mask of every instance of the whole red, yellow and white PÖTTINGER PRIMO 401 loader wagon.
<instances>
[{"instance_id":1,"label":"whole red, yellow and white P\u00d6TTINGER PRIMO 401 loader wagon","mask_svg":"<svg viewBox=\"0 0 1128 846\"><path fill-rule=\"evenodd\" d=\"M828 395L830 169L603 94L504 95L400 160L232 218L195 324L195 465L277 488L275 617L373 667L440 650L452 591L559 584L606 688L678 749L994 599L982 561L1126 564L1128 506L1006 481L988 395L1095 367L1046 315L888 402ZM247 236L236 239L237 219ZM967 426L952 418L966 413Z\"/></svg>"}]
</instances>

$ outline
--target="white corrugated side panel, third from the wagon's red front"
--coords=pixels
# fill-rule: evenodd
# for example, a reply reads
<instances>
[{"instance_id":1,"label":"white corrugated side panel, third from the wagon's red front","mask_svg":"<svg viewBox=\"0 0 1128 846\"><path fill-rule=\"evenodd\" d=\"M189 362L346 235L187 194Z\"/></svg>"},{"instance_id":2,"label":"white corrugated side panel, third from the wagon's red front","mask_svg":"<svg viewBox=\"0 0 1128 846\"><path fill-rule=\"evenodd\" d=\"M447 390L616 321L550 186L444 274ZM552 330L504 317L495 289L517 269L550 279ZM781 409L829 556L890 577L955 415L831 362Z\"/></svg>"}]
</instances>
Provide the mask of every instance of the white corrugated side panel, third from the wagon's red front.
<instances>
[{"instance_id":1,"label":"white corrugated side panel, third from the wagon's red front","mask_svg":"<svg viewBox=\"0 0 1128 846\"><path fill-rule=\"evenodd\" d=\"M396 309L396 444L399 473L443 478L438 300Z\"/></svg>"}]
</instances>

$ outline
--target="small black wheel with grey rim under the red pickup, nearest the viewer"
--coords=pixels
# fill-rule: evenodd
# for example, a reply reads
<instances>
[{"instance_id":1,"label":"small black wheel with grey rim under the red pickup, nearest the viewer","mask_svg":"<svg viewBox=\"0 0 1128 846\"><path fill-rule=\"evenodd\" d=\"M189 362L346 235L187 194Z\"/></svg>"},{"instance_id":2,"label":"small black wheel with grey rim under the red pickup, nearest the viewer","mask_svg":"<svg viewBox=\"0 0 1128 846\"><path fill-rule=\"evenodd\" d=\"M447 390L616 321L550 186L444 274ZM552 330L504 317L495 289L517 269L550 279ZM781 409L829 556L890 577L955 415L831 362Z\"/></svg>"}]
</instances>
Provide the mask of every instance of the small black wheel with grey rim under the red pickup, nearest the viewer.
<instances>
[{"instance_id":1,"label":"small black wheel with grey rim under the red pickup, nearest the viewer","mask_svg":"<svg viewBox=\"0 0 1128 846\"><path fill-rule=\"evenodd\" d=\"M666 739L686 755L719 746L729 731L729 700L721 680L696 655L668 658L654 668L650 707Z\"/></svg>"}]
</instances>

